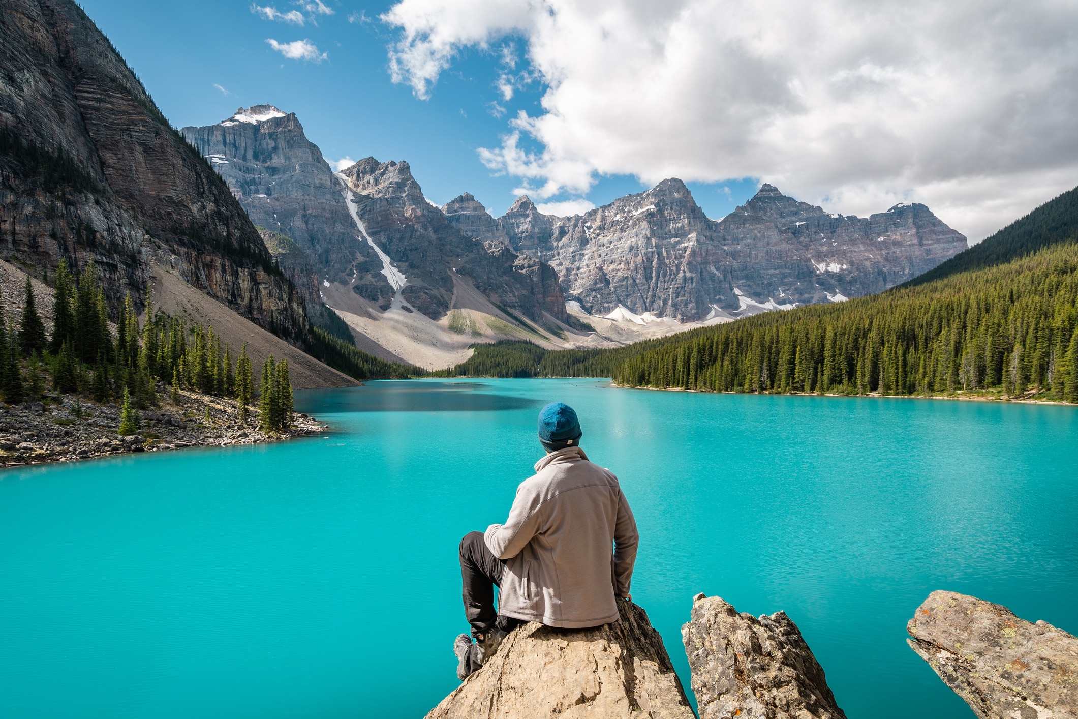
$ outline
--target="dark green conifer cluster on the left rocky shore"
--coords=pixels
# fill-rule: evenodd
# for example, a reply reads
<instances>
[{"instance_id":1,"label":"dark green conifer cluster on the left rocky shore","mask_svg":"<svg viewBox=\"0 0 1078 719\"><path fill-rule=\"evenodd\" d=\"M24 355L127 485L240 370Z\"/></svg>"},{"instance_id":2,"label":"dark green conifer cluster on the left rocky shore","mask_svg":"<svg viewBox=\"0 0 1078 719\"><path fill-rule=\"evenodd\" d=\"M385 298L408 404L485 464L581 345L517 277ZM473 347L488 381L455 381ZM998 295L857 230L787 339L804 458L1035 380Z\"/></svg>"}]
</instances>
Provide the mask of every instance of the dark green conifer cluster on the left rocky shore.
<instances>
[{"instance_id":1,"label":"dark green conifer cluster on the left rocky shore","mask_svg":"<svg viewBox=\"0 0 1078 719\"><path fill-rule=\"evenodd\" d=\"M158 382L171 385L177 403L180 390L189 389L236 399L241 415L254 399L246 344L234 354L211 326L189 327L155 313L152 300L140 322L128 294L113 336L93 262L74 276L60 261L54 277L51 334L38 314L29 277L22 317L4 319L0 312L0 390L9 403L41 398L45 371L57 392L83 393L98 402L123 398L126 428L137 427L137 407L158 402ZM264 363L260 409L264 429L280 430L291 424L287 360L276 362L271 356Z\"/></svg>"}]
</instances>

